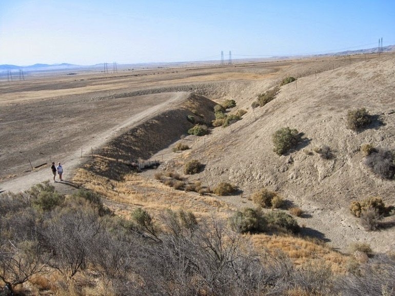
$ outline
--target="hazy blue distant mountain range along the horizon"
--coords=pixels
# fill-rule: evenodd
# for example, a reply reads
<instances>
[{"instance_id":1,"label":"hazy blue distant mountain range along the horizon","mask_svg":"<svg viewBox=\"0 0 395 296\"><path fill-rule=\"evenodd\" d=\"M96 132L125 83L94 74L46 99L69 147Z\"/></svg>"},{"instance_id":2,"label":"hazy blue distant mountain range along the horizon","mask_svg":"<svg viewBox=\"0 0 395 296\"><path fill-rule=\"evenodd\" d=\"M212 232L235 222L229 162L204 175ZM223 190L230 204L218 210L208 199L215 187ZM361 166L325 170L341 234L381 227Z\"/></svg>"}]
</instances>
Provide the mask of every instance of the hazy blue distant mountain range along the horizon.
<instances>
[{"instance_id":1,"label":"hazy blue distant mountain range along the horizon","mask_svg":"<svg viewBox=\"0 0 395 296\"><path fill-rule=\"evenodd\" d=\"M395 51L395 45L384 46L381 49L381 52ZM348 50L334 53L326 53L326 54L318 54L318 56L330 56L330 55L350 55L350 54L363 54L363 53L377 53L379 51L378 47L368 48L368 49L358 49L358 50ZM281 56L277 56L280 58ZM254 59L252 59L254 60ZM183 64L182 62L180 62ZM152 64L161 64L161 65L175 65L180 63L142 63L142 64L133 64L133 65L152 65ZM186 63L186 62L185 62ZM84 69L84 68L93 68L93 67L103 67L104 64L96 64L91 66L81 66L81 65L73 65L73 64L34 64L31 66L15 66L15 65L0 65L0 71L8 71L8 70L31 70L31 71L44 71L44 70L67 70L67 69Z\"/></svg>"}]
</instances>

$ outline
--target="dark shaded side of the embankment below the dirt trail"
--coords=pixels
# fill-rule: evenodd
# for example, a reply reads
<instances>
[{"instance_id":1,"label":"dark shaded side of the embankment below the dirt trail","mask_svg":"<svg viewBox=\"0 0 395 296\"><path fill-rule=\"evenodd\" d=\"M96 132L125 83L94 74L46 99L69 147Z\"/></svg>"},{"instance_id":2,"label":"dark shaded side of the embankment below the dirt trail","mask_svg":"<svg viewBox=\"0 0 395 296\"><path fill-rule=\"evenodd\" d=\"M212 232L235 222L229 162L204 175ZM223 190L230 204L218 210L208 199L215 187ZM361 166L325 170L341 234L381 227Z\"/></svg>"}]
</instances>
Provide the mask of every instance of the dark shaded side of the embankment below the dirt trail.
<instances>
[{"instance_id":1,"label":"dark shaded side of the embankment below the dirt trail","mask_svg":"<svg viewBox=\"0 0 395 296\"><path fill-rule=\"evenodd\" d=\"M167 108L147 118L110 141L85 168L92 173L119 180L124 173L130 172L133 162L149 159L187 134L188 129L194 126L188 116L193 116L198 123L209 125L215 118L215 105L208 98L191 93L179 106Z\"/></svg>"}]
</instances>

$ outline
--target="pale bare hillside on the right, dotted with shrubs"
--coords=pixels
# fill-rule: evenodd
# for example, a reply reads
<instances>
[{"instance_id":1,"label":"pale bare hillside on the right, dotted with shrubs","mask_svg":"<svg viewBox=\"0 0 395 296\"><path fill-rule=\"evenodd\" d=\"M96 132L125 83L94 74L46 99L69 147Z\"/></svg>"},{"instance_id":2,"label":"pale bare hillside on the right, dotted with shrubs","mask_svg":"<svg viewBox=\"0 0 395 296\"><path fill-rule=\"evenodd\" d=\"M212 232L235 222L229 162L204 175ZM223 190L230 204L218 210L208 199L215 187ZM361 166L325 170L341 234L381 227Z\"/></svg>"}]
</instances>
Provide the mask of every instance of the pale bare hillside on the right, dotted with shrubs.
<instances>
[{"instance_id":1,"label":"pale bare hillside on the right, dotted with shrubs","mask_svg":"<svg viewBox=\"0 0 395 296\"><path fill-rule=\"evenodd\" d=\"M298 76L297 69L289 70ZM250 106L259 82L237 92L229 90L227 97L249 112L228 128L216 128L204 145L196 142L191 157L206 165L196 177L207 179L211 186L231 182L244 197L263 186L278 191L308 213L310 218L300 219L300 224L321 232L333 247L344 250L357 241L370 243L378 251L393 249L395 230L366 232L349 213L349 204L369 196L395 204L394 181L370 172L360 152L363 144L395 148L394 73L391 55L300 77L283 86L276 100L254 112ZM347 129L347 111L360 107L384 124L376 122L360 132ZM273 152L271 142L272 133L281 127L304 133L303 143L284 156ZM330 147L331 159L313 152L322 145ZM242 204L240 196L224 200L251 206Z\"/></svg>"}]
</instances>

